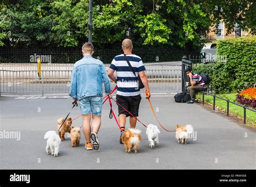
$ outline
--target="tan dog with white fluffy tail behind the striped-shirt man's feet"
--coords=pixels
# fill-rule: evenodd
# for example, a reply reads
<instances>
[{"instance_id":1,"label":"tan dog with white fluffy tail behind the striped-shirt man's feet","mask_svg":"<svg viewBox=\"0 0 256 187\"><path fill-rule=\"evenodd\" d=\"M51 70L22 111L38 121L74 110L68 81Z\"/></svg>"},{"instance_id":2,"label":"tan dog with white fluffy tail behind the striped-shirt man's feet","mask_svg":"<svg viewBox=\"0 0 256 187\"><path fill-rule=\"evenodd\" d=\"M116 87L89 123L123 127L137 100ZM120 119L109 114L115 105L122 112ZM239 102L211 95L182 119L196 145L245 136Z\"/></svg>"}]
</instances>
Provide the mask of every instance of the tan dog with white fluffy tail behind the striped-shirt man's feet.
<instances>
[{"instance_id":1,"label":"tan dog with white fluffy tail behind the striped-shirt man's feet","mask_svg":"<svg viewBox=\"0 0 256 187\"><path fill-rule=\"evenodd\" d=\"M142 131L135 128L128 128L122 134L122 142L126 153L130 153L132 147L134 147L134 153L138 153L138 147L140 143L140 133Z\"/></svg>"}]
</instances>

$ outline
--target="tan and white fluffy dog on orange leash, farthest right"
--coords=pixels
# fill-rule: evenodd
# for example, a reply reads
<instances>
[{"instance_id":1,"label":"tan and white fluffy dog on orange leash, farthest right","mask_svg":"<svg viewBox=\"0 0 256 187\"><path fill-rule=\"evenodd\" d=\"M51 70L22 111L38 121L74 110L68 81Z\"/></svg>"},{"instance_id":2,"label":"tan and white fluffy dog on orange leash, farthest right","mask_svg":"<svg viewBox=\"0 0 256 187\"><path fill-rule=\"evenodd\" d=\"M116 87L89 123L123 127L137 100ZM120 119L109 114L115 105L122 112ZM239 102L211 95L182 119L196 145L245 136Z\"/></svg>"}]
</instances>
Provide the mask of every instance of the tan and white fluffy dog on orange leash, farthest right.
<instances>
[{"instance_id":1,"label":"tan and white fluffy dog on orange leash, farthest right","mask_svg":"<svg viewBox=\"0 0 256 187\"><path fill-rule=\"evenodd\" d=\"M186 125L186 126L177 125L176 138L178 140L178 143L186 144L188 141L188 135L192 133L193 133L192 125Z\"/></svg>"}]
</instances>

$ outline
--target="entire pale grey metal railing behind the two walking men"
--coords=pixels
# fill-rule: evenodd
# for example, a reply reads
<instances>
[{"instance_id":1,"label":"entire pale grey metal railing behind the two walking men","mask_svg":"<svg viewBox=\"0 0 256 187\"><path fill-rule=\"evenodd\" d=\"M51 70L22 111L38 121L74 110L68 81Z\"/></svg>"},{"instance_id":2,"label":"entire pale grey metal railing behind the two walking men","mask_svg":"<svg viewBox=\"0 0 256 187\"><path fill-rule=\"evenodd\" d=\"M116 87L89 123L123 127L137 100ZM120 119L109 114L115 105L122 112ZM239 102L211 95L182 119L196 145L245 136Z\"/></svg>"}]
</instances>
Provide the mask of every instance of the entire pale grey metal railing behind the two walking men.
<instances>
[{"instance_id":1,"label":"entire pale grey metal railing behind the two walking men","mask_svg":"<svg viewBox=\"0 0 256 187\"><path fill-rule=\"evenodd\" d=\"M146 65L152 92L181 91L181 65ZM44 70L0 70L1 93L68 93L72 70L66 67ZM108 66L106 66L108 69Z\"/></svg>"}]
</instances>

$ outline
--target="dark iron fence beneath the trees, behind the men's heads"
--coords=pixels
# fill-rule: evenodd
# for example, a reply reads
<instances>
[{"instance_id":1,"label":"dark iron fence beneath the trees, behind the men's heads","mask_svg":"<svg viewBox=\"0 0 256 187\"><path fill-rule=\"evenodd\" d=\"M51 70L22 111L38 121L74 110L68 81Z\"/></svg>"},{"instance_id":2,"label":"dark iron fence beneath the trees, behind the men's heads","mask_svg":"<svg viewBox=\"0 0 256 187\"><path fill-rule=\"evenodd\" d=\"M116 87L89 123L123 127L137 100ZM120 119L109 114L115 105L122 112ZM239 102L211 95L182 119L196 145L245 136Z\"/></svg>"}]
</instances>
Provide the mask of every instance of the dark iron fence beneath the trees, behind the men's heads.
<instances>
[{"instance_id":1,"label":"dark iron fence beneath the trees, behind the men's heads","mask_svg":"<svg viewBox=\"0 0 256 187\"><path fill-rule=\"evenodd\" d=\"M111 63L113 57L122 54L121 48L96 48L93 57L104 63ZM133 54L140 56L143 62L180 61L183 55L199 55L198 51L188 51L164 46L134 47ZM0 63L75 63L82 59L80 48L0 48Z\"/></svg>"}]
</instances>

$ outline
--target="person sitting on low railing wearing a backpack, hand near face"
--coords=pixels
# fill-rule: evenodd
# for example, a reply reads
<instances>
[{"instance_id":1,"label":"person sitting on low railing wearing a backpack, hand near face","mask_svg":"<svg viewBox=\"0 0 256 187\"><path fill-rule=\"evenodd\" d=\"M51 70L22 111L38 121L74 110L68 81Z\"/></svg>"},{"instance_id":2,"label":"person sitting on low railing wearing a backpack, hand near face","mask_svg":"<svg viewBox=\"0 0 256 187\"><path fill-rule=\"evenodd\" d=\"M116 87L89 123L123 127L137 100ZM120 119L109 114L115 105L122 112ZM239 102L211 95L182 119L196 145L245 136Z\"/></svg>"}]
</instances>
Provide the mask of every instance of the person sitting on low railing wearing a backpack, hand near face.
<instances>
[{"instance_id":1,"label":"person sitting on low railing wearing a backpack, hand near face","mask_svg":"<svg viewBox=\"0 0 256 187\"><path fill-rule=\"evenodd\" d=\"M198 103L196 92L206 91L207 85L204 83L203 78L199 74L194 73L191 68L187 68L185 74L190 77L190 82L186 82L186 86L188 86L187 91L191 95L191 100L188 100L187 103Z\"/></svg>"}]
</instances>

